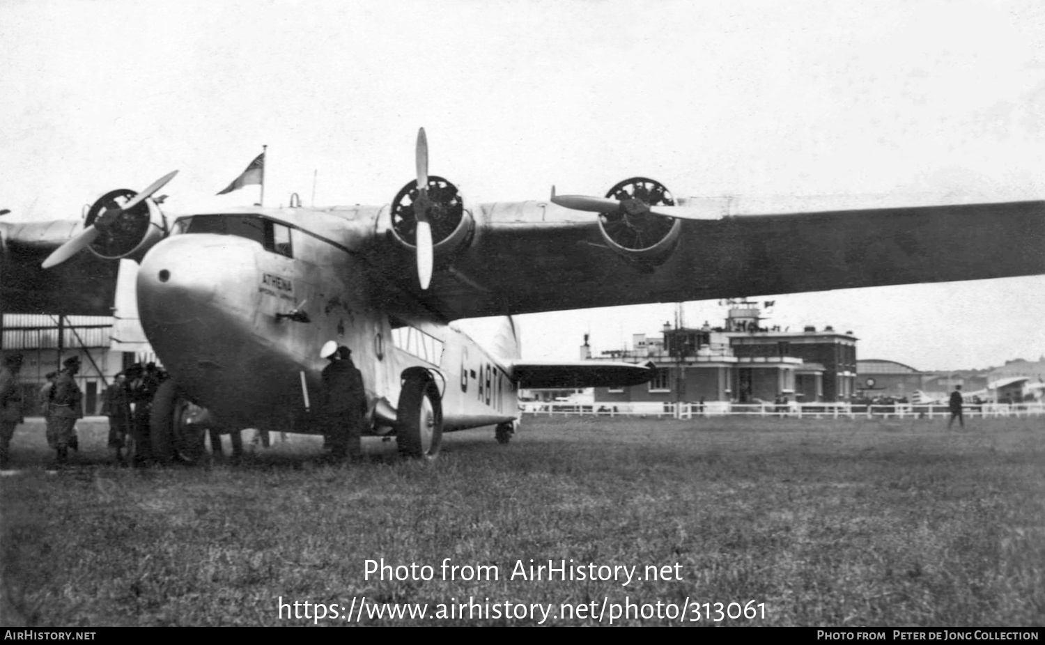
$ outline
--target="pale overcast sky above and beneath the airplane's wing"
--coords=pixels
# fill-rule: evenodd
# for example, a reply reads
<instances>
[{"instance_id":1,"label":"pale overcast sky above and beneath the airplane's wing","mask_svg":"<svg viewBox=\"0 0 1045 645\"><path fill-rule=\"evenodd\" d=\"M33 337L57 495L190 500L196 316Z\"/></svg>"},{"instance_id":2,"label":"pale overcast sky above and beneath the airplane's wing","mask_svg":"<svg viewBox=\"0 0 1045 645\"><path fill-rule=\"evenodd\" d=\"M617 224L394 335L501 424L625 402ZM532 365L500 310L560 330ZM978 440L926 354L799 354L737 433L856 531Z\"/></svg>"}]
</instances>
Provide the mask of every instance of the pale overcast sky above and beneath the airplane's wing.
<instances>
[{"instance_id":1,"label":"pale overcast sky above and beneath the airplane's wing","mask_svg":"<svg viewBox=\"0 0 1045 645\"><path fill-rule=\"evenodd\" d=\"M247 205L256 187L214 193L263 144L266 206L385 204L419 126L431 171L479 202L636 175L676 195L1039 200L1043 41L1037 1L5 0L0 207L76 218L171 169L168 212ZM1045 354L1043 276L757 300L766 324L831 324L918 369ZM617 349L675 308L522 316L524 356Z\"/></svg>"}]
</instances>

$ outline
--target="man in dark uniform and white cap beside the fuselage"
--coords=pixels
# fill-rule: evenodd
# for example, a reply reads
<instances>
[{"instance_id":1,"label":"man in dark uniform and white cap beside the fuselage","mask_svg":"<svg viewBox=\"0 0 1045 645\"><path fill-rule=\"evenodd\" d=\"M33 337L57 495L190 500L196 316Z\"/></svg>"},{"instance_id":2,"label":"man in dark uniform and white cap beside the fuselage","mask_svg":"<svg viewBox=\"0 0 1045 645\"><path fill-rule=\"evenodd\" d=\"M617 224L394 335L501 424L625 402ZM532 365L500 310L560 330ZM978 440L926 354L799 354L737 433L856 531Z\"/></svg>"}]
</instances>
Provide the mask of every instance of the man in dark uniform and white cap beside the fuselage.
<instances>
[{"instance_id":1,"label":"man in dark uniform and white cap beside the fuselage","mask_svg":"<svg viewBox=\"0 0 1045 645\"><path fill-rule=\"evenodd\" d=\"M352 350L334 341L323 346L320 355L330 363L323 368L323 415L331 456L357 461L363 456L361 436L367 395L363 374L352 364Z\"/></svg>"}]
</instances>

